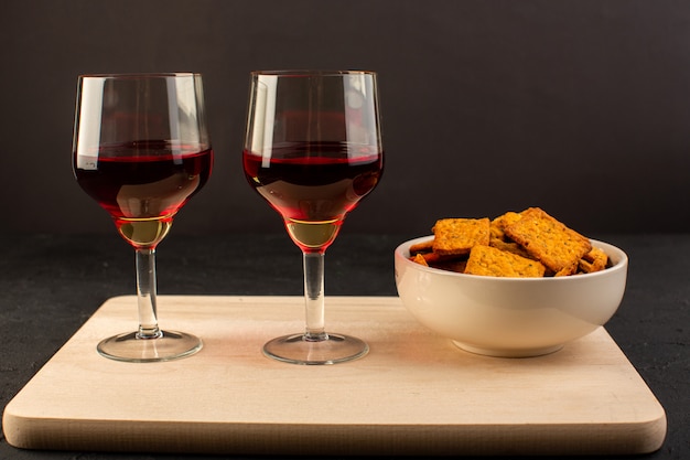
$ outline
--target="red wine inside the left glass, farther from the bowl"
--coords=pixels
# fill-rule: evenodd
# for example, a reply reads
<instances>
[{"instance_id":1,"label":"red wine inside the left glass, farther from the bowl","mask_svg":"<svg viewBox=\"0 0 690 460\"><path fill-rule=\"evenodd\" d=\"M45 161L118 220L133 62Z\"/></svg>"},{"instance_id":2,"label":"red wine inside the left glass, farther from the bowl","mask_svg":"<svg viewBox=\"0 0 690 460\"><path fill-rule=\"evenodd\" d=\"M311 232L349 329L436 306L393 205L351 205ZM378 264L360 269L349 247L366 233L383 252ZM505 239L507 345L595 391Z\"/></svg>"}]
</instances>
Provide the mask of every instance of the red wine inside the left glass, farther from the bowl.
<instances>
[{"instance_id":1,"label":"red wine inside the left glass, farther from the bowl","mask_svg":"<svg viewBox=\"0 0 690 460\"><path fill-rule=\"evenodd\" d=\"M165 141L131 142L75 157L77 182L134 246L158 244L173 216L207 182L213 151Z\"/></svg>"}]
</instances>

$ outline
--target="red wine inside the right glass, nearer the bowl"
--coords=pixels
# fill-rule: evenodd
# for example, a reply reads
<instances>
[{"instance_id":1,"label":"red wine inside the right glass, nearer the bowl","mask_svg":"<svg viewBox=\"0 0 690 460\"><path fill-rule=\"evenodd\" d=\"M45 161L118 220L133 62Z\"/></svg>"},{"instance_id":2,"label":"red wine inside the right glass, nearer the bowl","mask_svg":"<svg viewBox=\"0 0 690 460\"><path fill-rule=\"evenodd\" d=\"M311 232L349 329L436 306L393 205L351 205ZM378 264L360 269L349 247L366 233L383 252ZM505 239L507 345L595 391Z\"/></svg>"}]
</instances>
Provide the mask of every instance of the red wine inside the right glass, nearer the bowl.
<instances>
[{"instance_id":1,"label":"red wine inside the right glass, nearer the bowl","mask_svg":"<svg viewBox=\"0 0 690 460\"><path fill-rule=\"evenodd\" d=\"M356 149L356 148L355 148ZM325 250L346 214L378 184L384 156L339 142L273 148L271 157L245 150L249 184L285 220L304 250Z\"/></svg>"}]
</instances>

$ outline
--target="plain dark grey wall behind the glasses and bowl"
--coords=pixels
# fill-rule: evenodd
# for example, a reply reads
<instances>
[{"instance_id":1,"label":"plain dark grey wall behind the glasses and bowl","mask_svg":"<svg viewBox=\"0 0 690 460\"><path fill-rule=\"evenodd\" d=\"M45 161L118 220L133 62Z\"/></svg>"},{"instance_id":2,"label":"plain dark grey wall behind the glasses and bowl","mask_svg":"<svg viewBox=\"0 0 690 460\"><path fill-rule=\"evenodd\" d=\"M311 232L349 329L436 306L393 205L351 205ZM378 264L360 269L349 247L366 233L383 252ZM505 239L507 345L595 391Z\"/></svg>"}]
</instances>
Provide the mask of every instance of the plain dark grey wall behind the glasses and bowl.
<instances>
[{"instance_id":1,"label":"plain dark grey wall behind the glasses and bowl","mask_svg":"<svg viewBox=\"0 0 690 460\"><path fill-rule=\"evenodd\" d=\"M106 233L71 150L80 73L201 72L216 151L174 234L282 232L240 163L248 73L379 73L387 170L344 227L540 206L584 234L683 232L690 2L6 0L0 205L8 232Z\"/></svg>"}]
</instances>

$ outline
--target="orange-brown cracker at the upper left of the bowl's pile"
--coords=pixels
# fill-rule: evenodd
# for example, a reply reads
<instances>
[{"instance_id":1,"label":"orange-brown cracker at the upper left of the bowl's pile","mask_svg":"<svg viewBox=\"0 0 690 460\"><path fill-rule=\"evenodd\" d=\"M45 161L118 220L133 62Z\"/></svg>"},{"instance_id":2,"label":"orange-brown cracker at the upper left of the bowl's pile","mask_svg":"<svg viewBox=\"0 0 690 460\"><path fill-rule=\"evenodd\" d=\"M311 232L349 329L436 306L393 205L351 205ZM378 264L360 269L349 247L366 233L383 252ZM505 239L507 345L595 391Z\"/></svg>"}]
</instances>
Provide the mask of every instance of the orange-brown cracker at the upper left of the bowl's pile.
<instances>
[{"instance_id":1,"label":"orange-brown cracker at the upper left of the bowl's pile","mask_svg":"<svg viewBox=\"0 0 690 460\"><path fill-rule=\"evenodd\" d=\"M489 220L441 218L433 228L433 252L441 256L470 254L475 245L488 245Z\"/></svg>"}]
</instances>

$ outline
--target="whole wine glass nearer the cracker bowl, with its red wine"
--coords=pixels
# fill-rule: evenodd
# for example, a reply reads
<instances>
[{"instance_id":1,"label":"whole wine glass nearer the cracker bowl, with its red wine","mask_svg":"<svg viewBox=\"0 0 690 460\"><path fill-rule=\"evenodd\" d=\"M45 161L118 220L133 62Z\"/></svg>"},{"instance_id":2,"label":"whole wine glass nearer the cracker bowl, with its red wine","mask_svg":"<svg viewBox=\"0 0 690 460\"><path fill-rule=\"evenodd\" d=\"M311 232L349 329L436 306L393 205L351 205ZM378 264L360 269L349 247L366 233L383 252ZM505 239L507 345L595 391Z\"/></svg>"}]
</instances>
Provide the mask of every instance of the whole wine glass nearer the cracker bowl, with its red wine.
<instances>
[{"instance_id":1,"label":"whole wine glass nearer the cracker bowl, with its red wine","mask_svg":"<svg viewBox=\"0 0 690 460\"><path fill-rule=\"evenodd\" d=\"M245 175L282 216L304 268L305 330L266 343L268 357L334 364L369 350L360 339L325 330L324 255L381 178L379 126L374 72L251 73Z\"/></svg>"}]
</instances>

